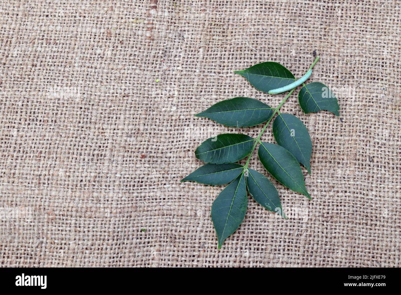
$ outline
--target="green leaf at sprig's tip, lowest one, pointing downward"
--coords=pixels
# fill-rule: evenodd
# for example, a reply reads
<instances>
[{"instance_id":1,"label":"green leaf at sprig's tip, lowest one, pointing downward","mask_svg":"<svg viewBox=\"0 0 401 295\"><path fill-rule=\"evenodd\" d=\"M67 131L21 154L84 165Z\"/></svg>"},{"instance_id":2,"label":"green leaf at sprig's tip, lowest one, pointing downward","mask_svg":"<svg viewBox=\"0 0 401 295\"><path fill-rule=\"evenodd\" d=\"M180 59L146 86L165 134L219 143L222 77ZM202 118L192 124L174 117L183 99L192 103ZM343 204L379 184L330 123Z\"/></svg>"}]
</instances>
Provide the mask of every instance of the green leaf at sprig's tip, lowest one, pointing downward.
<instances>
[{"instance_id":1,"label":"green leaf at sprig's tip, lowest one, pointing downward","mask_svg":"<svg viewBox=\"0 0 401 295\"><path fill-rule=\"evenodd\" d=\"M211 215L219 241L219 249L224 240L233 234L244 220L247 205L245 175L241 173L223 189L212 205Z\"/></svg>"}]
</instances>

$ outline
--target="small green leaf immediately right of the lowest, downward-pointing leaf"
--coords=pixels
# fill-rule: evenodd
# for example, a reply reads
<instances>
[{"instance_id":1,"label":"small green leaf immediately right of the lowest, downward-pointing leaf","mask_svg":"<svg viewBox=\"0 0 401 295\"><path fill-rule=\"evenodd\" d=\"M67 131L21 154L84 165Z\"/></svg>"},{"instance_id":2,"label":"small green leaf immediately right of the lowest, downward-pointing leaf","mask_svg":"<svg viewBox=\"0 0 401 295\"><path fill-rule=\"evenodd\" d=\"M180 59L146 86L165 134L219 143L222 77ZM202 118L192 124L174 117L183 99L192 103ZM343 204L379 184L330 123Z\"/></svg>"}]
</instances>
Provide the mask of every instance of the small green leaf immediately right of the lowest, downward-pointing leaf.
<instances>
[{"instance_id":1,"label":"small green leaf immediately right of the lowest, downward-pointing leaf","mask_svg":"<svg viewBox=\"0 0 401 295\"><path fill-rule=\"evenodd\" d=\"M255 201L269 211L277 212L279 210L284 217L277 189L265 175L248 168L247 187Z\"/></svg>"}]
</instances>

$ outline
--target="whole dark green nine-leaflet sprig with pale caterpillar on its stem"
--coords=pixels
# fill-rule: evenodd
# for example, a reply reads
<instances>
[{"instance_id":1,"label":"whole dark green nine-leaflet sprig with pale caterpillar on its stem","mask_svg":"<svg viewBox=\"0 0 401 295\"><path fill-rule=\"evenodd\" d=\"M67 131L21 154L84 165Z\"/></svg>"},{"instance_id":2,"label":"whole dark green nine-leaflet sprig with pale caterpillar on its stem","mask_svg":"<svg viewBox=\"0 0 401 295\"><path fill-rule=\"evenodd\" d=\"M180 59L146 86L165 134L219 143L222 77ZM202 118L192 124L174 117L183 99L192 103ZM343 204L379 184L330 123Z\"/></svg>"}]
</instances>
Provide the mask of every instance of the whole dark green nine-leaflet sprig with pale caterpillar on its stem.
<instances>
[{"instance_id":1,"label":"whole dark green nine-leaflet sprig with pale caterpillar on its stem","mask_svg":"<svg viewBox=\"0 0 401 295\"><path fill-rule=\"evenodd\" d=\"M257 138L225 133L205 140L196 149L195 157L207 164L181 180L208 185L229 183L217 196L211 209L219 249L245 218L247 192L264 208L286 218L275 186L265 175L249 168L258 144L258 157L266 171L285 187L311 199L300 167L302 164L311 173L312 142L308 130L296 116L279 110L296 87L302 85L298 101L305 114L327 110L339 116L337 98L326 85L320 82L304 83L318 60L319 57L316 57L306 74L298 80L290 70L273 61L235 71L262 92L279 94L290 91L276 108L254 98L235 97L218 102L195 115L225 126L250 127L265 122ZM277 144L262 142L261 136L273 118L273 136ZM247 160L244 165L236 163L245 157Z\"/></svg>"}]
</instances>

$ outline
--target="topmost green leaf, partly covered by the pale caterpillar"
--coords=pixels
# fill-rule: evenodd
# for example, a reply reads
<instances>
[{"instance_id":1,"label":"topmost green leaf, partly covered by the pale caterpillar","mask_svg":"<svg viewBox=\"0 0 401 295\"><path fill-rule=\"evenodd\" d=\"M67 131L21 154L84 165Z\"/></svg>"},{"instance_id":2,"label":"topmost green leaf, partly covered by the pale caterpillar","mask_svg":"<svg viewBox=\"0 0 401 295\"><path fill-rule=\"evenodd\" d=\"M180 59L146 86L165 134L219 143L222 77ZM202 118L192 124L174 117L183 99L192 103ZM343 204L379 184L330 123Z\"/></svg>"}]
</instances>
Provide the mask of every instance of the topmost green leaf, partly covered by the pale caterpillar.
<instances>
[{"instance_id":1,"label":"topmost green leaf, partly covered by the pale caterpillar","mask_svg":"<svg viewBox=\"0 0 401 295\"><path fill-rule=\"evenodd\" d=\"M294 75L283 65L273 61L258 63L242 71L234 71L245 77L256 89L269 92L296 81Z\"/></svg>"}]
</instances>

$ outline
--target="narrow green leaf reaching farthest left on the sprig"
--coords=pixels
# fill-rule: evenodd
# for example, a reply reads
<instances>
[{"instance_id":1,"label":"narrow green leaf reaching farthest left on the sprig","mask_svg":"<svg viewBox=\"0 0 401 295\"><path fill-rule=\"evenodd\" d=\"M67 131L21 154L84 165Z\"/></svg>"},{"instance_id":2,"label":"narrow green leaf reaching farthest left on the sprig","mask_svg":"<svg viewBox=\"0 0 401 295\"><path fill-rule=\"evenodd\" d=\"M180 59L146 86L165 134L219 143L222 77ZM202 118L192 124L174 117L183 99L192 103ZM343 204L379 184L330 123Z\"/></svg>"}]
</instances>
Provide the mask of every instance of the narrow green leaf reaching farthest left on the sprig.
<instances>
[{"instance_id":1,"label":"narrow green leaf reaching farthest left on the sprig","mask_svg":"<svg viewBox=\"0 0 401 295\"><path fill-rule=\"evenodd\" d=\"M243 170L243 166L239 164L206 164L190 175L185 177L182 181L196 181L198 183L221 185L233 181Z\"/></svg>"}]
</instances>

